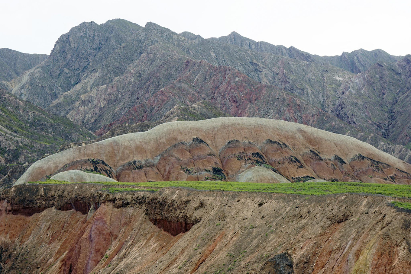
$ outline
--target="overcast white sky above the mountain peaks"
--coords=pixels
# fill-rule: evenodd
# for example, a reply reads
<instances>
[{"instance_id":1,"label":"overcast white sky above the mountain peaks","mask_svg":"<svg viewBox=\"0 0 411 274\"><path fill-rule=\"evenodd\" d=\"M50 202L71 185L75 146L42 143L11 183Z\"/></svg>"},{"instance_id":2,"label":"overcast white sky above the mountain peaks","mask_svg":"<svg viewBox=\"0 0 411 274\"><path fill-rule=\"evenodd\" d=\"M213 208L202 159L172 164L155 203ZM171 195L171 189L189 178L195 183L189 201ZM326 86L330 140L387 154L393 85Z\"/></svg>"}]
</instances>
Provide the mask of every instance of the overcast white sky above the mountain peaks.
<instances>
[{"instance_id":1,"label":"overcast white sky above the mountain peaks","mask_svg":"<svg viewBox=\"0 0 411 274\"><path fill-rule=\"evenodd\" d=\"M204 38L236 31L318 55L381 48L411 54L411 1L0 0L0 48L49 54L58 37L84 21L151 21Z\"/></svg>"}]
</instances>

